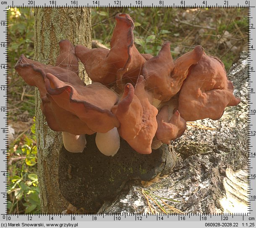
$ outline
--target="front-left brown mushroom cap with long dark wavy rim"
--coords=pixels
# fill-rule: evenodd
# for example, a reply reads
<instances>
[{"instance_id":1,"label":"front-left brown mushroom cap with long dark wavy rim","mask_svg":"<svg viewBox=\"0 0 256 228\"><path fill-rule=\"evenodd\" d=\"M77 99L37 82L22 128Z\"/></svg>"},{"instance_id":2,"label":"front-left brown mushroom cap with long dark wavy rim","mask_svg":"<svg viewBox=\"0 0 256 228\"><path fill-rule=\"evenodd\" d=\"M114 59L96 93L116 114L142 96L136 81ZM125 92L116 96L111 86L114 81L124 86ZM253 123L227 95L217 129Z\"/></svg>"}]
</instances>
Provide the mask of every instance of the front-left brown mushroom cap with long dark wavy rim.
<instances>
[{"instance_id":1,"label":"front-left brown mushroom cap with long dark wavy rim","mask_svg":"<svg viewBox=\"0 0 256 228\"><path fill-rule=\"evenodd\" d=\"M47 73L45 87L58 106L76 115L91 130L106 133L119 127L117 118L110 111L118 102L118 95L101 83L71 85Z\"/></svg>"}]
</instances>

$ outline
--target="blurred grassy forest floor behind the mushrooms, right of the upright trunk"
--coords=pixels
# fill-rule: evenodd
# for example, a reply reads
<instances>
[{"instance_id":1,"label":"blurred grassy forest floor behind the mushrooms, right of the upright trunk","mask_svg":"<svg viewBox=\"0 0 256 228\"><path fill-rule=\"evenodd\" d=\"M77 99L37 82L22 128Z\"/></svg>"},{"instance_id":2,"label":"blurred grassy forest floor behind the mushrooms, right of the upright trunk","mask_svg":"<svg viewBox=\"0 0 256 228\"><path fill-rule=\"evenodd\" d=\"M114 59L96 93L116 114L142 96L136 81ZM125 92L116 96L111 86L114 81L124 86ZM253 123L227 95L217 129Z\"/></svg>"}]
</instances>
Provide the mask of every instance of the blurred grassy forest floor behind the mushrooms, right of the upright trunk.
<instances>
[{"instance_id":1,"label":"blurred grassy forest floor behind the mushrooms, right of the upright trunk","mask_svg":"<svg viewBox=\"0 0 256 228\"><path fill-rule=\"evenodd\" d=\"M221 58L228 71L247 49L246 9L97 9L92 11L93 39L109 47L115 15L120 12L135 20L134 37L141 53L157 55L161 45L170 41L175 59L200 44L207 54ZM230 37L220 45L225 32Z\"/></svg>"}]
</instances>

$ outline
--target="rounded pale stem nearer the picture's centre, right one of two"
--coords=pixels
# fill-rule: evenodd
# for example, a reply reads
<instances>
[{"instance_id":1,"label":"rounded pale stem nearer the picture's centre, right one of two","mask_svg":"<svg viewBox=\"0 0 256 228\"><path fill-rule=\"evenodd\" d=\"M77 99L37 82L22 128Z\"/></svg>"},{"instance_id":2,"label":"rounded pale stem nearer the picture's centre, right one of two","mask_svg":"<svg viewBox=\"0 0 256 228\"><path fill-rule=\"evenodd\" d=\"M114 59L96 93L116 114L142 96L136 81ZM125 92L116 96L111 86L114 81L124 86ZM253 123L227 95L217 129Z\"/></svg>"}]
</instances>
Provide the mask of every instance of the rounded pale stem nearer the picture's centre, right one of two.
<instances>
[{"instance_id":1,"label":"rounded pale stem nearer the picture's centre, right one of two","mask_svg":"<svg viewBox=\"0 0 256 228\"><path fill-rule=\"evenodd\" d=\"M118 129L114 127L107 133L97 132L95 142L101 153L107 156L114 156L120 148Z\"/></svg>"}]
</instances>

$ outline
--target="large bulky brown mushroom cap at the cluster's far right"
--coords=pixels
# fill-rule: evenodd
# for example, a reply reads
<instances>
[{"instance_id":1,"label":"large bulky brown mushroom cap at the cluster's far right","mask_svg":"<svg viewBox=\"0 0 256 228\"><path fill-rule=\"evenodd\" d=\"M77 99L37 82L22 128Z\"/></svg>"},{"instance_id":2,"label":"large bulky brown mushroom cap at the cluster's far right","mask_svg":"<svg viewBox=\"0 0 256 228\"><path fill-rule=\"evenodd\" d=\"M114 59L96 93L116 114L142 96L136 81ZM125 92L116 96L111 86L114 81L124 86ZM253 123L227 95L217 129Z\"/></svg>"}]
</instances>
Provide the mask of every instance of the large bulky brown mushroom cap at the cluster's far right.
<instances>
[{"instance_id":1,"label":"large bulky brown mushroom cap at the cluster's far right","mask_svg":"<svg viewBox=\"0 0 256 228\"><path fill-rule=\"evenodd\" d=\"M227 79L224 64L203 53L197 65L190 69L179 95L180 116L186 121L222 117L225 107L240 102L233 95L233 84Z\"/></svg>"}]
</instances>

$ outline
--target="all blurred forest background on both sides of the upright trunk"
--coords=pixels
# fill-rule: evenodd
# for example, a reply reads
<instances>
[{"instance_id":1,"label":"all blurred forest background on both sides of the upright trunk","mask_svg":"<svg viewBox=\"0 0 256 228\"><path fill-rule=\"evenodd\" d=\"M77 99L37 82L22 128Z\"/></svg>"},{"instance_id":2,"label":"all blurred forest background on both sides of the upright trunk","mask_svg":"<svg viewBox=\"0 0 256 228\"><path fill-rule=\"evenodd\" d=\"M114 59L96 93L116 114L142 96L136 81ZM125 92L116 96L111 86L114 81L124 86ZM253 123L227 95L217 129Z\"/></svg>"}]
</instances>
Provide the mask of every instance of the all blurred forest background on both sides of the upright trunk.
<instances>
[{"instance_id":1,"label":"all blurred forest background on both sides of the upright trunk","mask_svg":"<svg viewBox=\"0 0 256 228\"><path fill-rule=\"evenodd\" d=\"M196 45L219 57L228 71L247 50L246 9L92 9L92 38L110 47L115 15L124 12L135 21L134 37L141 53L157 55L165 41L172 57ZM14 70L19 56L34 55L34 12L10 8L9 13L9 212L40 212L37 181L37 143L34 130L34 88Z\"/></svg>"}]
</instances>

